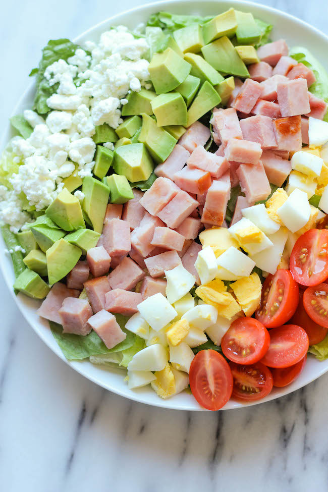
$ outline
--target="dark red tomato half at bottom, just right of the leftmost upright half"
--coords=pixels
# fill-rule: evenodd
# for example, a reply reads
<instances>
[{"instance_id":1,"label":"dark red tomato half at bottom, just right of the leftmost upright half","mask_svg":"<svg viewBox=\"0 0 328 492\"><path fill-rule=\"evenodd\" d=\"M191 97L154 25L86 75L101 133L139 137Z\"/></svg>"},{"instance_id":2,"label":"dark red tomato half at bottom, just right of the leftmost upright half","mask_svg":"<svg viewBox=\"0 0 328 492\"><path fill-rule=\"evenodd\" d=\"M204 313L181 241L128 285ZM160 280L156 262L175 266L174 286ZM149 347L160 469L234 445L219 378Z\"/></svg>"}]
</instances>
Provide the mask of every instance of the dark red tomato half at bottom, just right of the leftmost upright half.
<instances>
[{"instance_id":1,"label":"dark red tomato half at bottom, just right of the leftmost upright half","mask_svg":"<svg viewBox=\"0 0 328 492\"><path fill-rule=\"evenodd\" d=\"M272 390L274 380L268 367L261 362L252 365L240 365L231 362L230 369L234 378L233 398L254 402L267 396Z\"/></svg>"}]
</instances>

